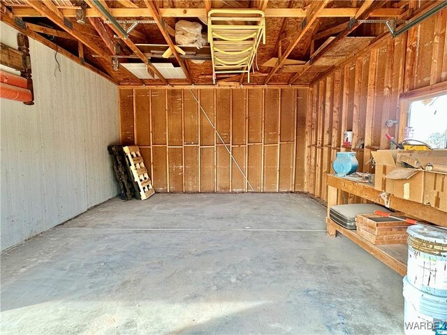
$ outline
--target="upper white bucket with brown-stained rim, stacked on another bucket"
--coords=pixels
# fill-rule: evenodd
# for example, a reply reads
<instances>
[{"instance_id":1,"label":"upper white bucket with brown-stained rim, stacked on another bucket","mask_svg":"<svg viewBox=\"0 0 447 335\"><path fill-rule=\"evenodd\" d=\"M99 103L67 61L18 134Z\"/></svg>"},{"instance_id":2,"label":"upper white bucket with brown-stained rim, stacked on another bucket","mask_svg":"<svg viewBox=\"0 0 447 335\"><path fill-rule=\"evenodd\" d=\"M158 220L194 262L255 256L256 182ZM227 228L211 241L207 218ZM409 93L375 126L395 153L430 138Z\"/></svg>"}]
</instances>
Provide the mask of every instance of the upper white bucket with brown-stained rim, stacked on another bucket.
<instances>
[{"instance_id":1,"label":"upper white bucket with brown-stained rim, stacked on another bucket","mask_svg":"<svg viewBox=\"0 0 447 335\"><path fill-rule=\"evenodd\" d=\"M412 225L406 276L418 290L447 297L447 230Z\"/></svg>"}]
</instances>

